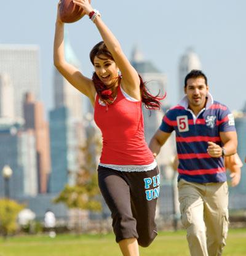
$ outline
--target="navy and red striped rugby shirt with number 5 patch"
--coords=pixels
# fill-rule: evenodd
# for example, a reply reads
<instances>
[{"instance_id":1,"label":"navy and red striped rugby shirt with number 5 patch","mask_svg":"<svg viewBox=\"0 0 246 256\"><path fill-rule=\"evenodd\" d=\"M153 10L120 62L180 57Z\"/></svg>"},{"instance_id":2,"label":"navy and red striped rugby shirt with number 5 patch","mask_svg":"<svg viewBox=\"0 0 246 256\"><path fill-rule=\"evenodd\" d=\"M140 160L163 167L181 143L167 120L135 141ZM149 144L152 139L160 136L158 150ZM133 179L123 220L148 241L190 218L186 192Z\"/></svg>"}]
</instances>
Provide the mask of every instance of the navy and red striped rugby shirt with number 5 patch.
<instances>
[{"instance_id":1,"label":"navy and red striped rugby shirt with number 5 patch","mask_svg":"<svg viewBox=\"0 0 246 256\"><path fill-rule=\"evenodd\" d=\"M197 116L188 108L187 96L171 108L159 128L163 132L176 132L178 153L178 180L208 183L225 182L226 169L223 157L212 158L207 153L207 142L222 146L220 132L234 131L231 112L225 105L213 101L208 93L207 104Z\"/></svg>"}]
</instances>

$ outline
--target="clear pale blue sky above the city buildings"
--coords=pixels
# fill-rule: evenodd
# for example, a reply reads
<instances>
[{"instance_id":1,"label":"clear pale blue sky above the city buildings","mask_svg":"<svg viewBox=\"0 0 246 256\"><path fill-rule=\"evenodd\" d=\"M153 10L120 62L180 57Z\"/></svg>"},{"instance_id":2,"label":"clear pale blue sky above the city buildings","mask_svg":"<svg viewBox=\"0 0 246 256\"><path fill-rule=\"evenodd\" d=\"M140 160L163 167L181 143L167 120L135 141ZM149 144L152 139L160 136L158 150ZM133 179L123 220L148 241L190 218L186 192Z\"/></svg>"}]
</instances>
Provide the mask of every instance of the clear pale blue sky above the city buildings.
<instances>
[{"instance_id":1,"label":"clear pale blue sky above the city buildings","mask_svg":"<svg viewBox=\"0 0 246 256\"><path fill-rule=\"evenodd\" d=\"M53 41L55 0L1 1L0 44L36 44L40 47L41 100L53 106ZM207 75L215 100L231 110L246 102L245 0L92 0L127 57L138 46L145 60L167 75L167 97L178 103L178 62L192 47ZM69 39L82 72L91 76L92 47L101 41L96 26L84 17L67 24Z\"/></svg>"}]
</instances>

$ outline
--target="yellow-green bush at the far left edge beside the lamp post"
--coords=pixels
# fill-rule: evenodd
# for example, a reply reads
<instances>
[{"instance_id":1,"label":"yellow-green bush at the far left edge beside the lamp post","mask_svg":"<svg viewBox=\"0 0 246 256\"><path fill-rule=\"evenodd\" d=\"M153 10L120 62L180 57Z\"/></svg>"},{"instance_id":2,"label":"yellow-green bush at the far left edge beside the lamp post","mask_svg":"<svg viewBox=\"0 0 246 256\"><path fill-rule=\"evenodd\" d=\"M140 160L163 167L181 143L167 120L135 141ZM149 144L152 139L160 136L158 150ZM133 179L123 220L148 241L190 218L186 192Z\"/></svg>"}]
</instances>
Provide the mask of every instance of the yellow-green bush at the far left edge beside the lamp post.
<instances>
[{"instance_id":1,"label":"yellow-green bush at the far left edge beside the lamp post","mask_svg":"<svg viewBox=\"0 0 246 256\"><path fill-rule=\"evenodd\" d=\"M14 200L0 199L0 232L4 238L17 230L17 215L24 207Z\"/></svg>"}]
</instances>

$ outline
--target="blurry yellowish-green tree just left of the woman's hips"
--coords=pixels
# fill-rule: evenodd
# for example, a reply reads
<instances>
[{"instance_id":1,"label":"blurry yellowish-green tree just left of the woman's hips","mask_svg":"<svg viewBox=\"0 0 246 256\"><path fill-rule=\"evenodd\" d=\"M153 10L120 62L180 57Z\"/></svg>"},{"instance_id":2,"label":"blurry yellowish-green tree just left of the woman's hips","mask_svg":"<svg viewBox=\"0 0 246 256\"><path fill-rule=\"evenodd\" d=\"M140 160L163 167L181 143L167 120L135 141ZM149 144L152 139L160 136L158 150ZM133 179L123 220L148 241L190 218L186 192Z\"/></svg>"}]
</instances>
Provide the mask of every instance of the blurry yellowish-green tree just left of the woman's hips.
<instances>
[{"instance_id":1,"label":"blurry yellowish-green tree just left of the woman's hips","mask_svg":"<svg viewBox=\"0 0 246 256\"><path fill-rule=\"evenodd\" d=\"M98 156L101 152L101 136L92 122L86 129L86 140L81 146L84 161L76 174L76 185L66 185L54 202L63 202L70 209L101 210L100 194L97 182Z\"/></svg>"}]
</instances>

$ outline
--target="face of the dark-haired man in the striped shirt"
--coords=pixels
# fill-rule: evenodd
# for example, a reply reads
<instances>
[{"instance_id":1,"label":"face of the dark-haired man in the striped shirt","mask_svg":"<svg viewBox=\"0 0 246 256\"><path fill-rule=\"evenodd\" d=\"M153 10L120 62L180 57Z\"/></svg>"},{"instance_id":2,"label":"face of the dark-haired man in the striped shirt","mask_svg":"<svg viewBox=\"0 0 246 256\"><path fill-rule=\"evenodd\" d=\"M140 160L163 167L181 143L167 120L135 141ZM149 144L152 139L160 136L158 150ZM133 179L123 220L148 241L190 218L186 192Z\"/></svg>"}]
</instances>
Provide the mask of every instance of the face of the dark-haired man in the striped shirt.
<instances>
[{"instance_id":1,"label":"face of the dark-haired man in the striped shirt","mask_svg":"<svg viewBox=\"0 0 246 256\"><path fill-rule=\"evenodd\" d=\"M185 94L188 97L189 106L192 108L204 108L208 86L205 84L205 79L189 78L185 87Z\"/></svg>"}]
</instances>

